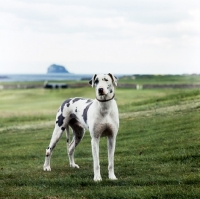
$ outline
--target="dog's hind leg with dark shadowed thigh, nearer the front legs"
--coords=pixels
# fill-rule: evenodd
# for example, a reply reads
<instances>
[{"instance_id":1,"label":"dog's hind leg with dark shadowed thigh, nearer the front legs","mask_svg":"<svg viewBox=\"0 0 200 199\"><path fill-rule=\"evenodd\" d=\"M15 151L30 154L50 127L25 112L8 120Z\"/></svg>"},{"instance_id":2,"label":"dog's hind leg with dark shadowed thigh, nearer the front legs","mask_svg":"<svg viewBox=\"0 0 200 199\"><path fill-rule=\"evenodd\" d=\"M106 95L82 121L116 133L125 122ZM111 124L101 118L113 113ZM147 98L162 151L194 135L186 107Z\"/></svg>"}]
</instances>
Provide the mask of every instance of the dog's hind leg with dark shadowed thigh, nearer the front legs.
<instances>
[{"instance_id":1,"label":"dog's hind leg with dark shadowed thigh, nearer the front legs","mask_svg":"<svg viewBox=\"0 0 200 199\"><path fill-rule=\"evenodd\" d=\"M71 143L69 144L69 148L68 148L70 167L79 168L79 166L75 164L74 162L74 151L77 145L82 140L85 131L84 131L84 128L82 128L78 123L71 123L70 126L72 127L73 134L74 134L73 139Z\"/></svg>"}]
</instances>

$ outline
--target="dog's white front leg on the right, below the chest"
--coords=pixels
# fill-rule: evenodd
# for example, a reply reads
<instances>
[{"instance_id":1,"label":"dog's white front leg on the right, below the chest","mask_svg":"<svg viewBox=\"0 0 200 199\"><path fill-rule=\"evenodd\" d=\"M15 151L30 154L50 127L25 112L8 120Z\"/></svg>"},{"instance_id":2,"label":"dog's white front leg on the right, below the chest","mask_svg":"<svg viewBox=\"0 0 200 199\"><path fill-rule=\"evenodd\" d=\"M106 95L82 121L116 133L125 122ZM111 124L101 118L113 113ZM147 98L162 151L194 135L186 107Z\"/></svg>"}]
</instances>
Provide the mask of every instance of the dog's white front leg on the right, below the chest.
<instances>
[{"instance_id":1,"label":"dog's white front leg on the right, below the chest","mask_svg":"<svg viewBox=\"0 0 200 199\"><path fill-rule=\"evenodd\" d=\"M108 176L110 180L117 180L114 173L114 153L115 153L116 136L108 137Z\"/></svg>"}]
</instances>

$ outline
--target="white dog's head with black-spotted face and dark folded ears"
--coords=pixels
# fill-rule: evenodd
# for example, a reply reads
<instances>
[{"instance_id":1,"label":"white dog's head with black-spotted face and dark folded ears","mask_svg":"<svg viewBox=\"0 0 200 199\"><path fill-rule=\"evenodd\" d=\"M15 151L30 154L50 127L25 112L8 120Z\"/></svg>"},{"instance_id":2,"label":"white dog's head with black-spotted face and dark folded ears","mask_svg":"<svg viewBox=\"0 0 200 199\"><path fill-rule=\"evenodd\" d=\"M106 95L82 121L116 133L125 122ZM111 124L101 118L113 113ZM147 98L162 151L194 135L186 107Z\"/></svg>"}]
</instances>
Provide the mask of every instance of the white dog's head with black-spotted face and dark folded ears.
<instances>
[{"instance_id":1,"label":"white dog's head with black-spotted face and dark folded ears","mask_svg":"<svg viewBox=\"0 0 200 199\"><path fill-rule=\"evenodd\" d=\"M96 88L97 99L109 99L114 95L114 87L117 86L117 78L108 73L107 75L95 74L89 84Z\"/></svg>"}]
</instances>

